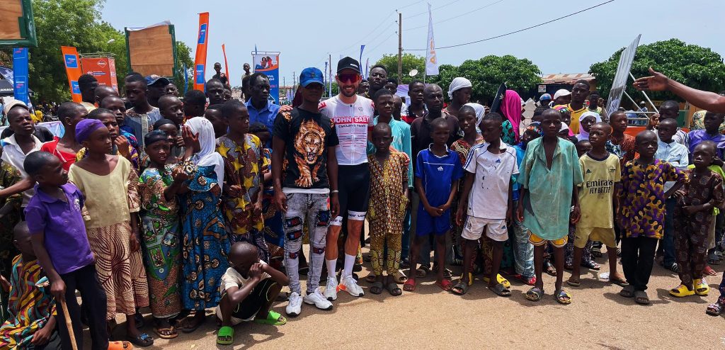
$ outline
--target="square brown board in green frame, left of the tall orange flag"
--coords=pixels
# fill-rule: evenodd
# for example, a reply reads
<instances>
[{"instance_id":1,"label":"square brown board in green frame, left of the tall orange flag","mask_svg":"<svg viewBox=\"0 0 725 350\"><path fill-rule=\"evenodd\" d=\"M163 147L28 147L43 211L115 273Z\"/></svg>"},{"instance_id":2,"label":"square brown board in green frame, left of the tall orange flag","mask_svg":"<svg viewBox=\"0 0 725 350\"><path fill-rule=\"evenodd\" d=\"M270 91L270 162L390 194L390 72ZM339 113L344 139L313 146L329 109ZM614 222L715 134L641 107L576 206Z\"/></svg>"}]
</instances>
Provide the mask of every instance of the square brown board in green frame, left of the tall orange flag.
<instances>
[{"instance_id":1,"label":"square brown board in green frame, left of the tall orange flag","mask_svg":"<svg viewBox=\"0 0 725 350\"><path fill-rule=\"evenodd\" d=\"M174 75L174 41L168 25L128 32L131 69L142 76Z\"/></svg>"}]
</instances>

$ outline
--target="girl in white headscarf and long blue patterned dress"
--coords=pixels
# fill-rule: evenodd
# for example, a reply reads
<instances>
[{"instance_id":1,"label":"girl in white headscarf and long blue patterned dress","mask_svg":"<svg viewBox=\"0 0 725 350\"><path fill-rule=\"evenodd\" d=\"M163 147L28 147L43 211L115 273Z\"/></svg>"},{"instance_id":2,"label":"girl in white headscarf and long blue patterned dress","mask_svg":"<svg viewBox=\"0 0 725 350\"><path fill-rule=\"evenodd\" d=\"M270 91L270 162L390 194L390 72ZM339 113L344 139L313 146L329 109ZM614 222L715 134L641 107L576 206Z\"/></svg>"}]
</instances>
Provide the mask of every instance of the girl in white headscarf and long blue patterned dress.
<instances>
[{"instance_id":1,"label":"girl in white headscarf and long blue patterned dress","mask_svg":"<svg viewBox=\"0 0 725 350\"><path fill-rule=\"evenodd\" d=\"M189 333L204 322L204 309L219 304L219 281L229 266L231 248L220 210L224 183L224 159L215 152L214 126L206 118L191 118L183 127L186 147L198 137L199 152L183 163L190 179L179 195L184 309L195 311L181 325ZM194 145L193 147L196 147Z\"/></svg>"}]
</instances>

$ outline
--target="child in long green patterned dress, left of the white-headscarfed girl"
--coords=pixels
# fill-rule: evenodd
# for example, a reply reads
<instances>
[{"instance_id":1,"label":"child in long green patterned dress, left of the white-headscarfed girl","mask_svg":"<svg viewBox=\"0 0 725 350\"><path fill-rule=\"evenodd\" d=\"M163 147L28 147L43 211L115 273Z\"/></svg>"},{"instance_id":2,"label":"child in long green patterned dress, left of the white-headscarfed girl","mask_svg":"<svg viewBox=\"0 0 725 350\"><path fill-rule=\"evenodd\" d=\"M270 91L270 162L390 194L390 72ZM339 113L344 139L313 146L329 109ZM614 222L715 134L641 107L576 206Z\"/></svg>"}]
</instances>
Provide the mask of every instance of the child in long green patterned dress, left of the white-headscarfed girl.
<instances>
[{"instance_id":1,"label":"child in long green patterned dress, left of the white-headscarfed girl","mask_svg":"<svg viewBox=\"0 0 725 350\"><path fill-rule=\"evenodd\" d=\"M149 299L156 327L162 339L176 338L178 333L169 319L181 312L181 229L176 195L188 179L181 168L168 165L170 147L167 134L154 130L144 138L149 166L138 178L141 196L146 274L149 276Z\"/></svg>"}]
</instances>

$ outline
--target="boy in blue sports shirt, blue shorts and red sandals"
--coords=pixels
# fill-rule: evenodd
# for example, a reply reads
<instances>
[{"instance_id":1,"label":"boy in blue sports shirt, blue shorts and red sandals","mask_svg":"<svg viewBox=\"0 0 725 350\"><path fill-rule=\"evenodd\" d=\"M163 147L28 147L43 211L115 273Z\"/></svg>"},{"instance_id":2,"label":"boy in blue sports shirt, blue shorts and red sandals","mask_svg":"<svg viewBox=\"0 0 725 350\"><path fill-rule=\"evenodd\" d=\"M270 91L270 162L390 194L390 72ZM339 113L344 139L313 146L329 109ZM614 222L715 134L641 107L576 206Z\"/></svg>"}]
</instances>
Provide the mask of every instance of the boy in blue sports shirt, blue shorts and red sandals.
<instances>
[{"instance_id":1,"label":"boy in blue sports shirt, blue shorts and red sandals","mask_svg":"<svg viewBox=\"0 0 725 350\"><path fill-rule=\"evenodd\" d=\"M446 254L446 235L451 229L450 207L458 190L458 182L463 176L463 166L460 165L456 152L449 150L446 143L450 137L450 126L446 118L436 118L431 121L431 139L433 144L427 150L418 152L415 167L415 189L421 197L418 206L418 222L416 223L413 247L410 250L410 276L403 289L409 292L415 290L415 269L418 267L418 253L423 240L433 234L436 237L436 251L438 254L438 271L436 285L442 290L449 291L452 282L444 279Z\"/></svg>"}]
</instances>

